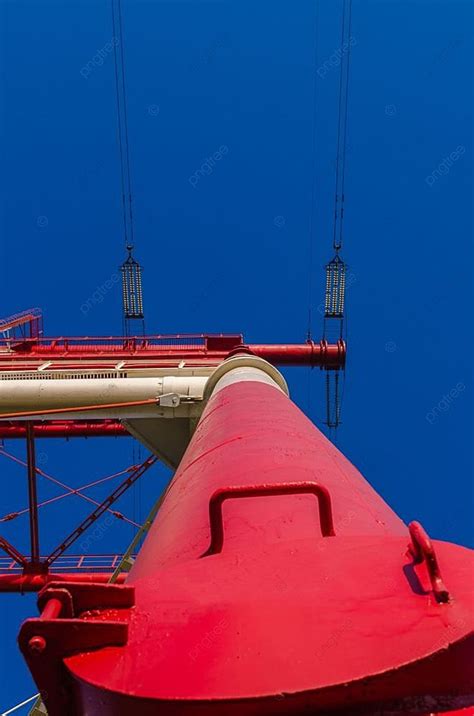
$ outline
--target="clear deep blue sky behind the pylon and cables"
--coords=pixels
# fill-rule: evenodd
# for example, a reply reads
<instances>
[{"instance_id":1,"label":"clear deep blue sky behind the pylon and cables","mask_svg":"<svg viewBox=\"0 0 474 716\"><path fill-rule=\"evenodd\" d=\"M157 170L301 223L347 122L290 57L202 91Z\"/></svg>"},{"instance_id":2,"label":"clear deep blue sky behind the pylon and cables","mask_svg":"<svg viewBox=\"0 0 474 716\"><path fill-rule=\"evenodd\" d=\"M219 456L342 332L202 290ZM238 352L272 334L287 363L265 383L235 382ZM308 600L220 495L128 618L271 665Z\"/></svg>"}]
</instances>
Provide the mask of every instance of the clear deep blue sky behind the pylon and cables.
<instances>
[{"instance_id":1,"label":"clear deep blue sky behind the pylon and cables","mask_svg":"<svg viewBox=\"0 0 474 716\"><path fill-rule=\"evenodd\" d=\"M149 331L304 340L314 2L123 6ZM404 520L469 545L472 15L469 0L353 3L344 251L353 279L338 437ZM339 23L340 3L323 0L318 67L339 47ZM121 329L118 286L81 311L124 258L113 57L104 50L112 36L109 2L0 0L1 314L41 306L50 335ZM338 81L337 66L318 79L315 306L331 253ZM212 173L190 181L220 147ZM292 369L287 378L320 424L323 376ZM137 459L128 439L43 442L38 451L45 470L73 485ZM123 510L143 517L165 477L156 469ZM2 515L25 505L24 478L2 459ZM57 492L41 483L42 498ZM87 509L74 498L45 508L45 550ZM27 548L25 517L2 531ZM111 528L100 551L130 536ZM1 604L3 709L34 693L15 643L34 600Z\"/></svg>"}]
</instances>

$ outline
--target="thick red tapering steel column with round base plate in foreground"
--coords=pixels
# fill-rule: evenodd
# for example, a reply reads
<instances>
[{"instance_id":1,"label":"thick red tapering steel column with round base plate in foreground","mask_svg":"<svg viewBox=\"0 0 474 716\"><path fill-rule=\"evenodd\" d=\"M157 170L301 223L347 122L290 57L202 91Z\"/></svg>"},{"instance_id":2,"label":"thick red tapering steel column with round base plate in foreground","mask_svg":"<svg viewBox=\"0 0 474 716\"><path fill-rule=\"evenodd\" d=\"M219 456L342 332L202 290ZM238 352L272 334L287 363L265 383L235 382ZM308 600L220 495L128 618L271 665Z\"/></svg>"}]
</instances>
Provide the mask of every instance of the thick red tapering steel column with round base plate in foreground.
<instances>
[{"instance_id":1,"label":"thick red tapering steel column with round base plate in foreground","mask_svg":"<svg viewBox=\"0 0 474 716\"><path fill-rule=\"evenodd\" d=\"M472 569L469 550L410 538L283 393L242 382L211 397L130 573L126 644L87 648L60 618L54 669L27 658L50 716L459 709L474 704ZM87 624L110 620L96 606Z\"/></svg>"}]
</instances>

